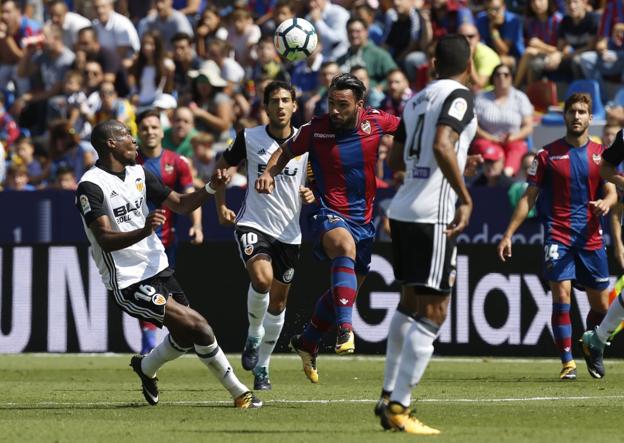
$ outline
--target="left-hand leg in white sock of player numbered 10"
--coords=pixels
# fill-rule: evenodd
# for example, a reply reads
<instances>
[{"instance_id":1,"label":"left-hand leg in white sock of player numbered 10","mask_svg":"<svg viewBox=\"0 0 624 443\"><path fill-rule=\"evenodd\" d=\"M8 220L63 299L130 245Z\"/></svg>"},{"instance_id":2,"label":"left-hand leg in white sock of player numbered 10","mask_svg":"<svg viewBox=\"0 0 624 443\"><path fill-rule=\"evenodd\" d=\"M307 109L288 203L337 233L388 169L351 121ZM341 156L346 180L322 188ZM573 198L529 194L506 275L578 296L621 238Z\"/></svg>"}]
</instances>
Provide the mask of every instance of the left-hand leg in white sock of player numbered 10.
<instances>
[{"instance_id":1,"label":"left-hand leg in white sock of player numbered 10","mask_svg":"<svg viewBox=\"0 0 624 443\"><path fill-rule=\"evenodd\" d=\"M247 292L249 329L241 356L243 368L252 370L258 363L258 350L264 337L264 319L269 306L269 291L273 282L271 257L259 254L247 262L250 284Z\"/></svg>"}]
</instances>

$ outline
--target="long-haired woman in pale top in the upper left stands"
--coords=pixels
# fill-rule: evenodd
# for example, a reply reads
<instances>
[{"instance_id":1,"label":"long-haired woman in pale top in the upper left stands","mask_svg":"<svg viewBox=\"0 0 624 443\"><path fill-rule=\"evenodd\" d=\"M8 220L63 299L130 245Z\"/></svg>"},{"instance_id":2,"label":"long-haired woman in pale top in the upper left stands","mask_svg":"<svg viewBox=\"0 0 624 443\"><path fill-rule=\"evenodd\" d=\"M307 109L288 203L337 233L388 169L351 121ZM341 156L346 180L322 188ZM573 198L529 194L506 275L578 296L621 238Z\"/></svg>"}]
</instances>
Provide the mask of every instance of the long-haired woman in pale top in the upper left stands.
<instances>
[{"instance_id":1,"label":"long-haired woman in pale top in the upper left stands","mask_svg":"<svg viewBox=\"0 0 624 443\"><path fill-rule=\"evenodd\" d=\"M138 112L152 108L160 94L170 93L173 89L175 65L167 58L163 44L158 31L146 31L141 37L139 56L128 75L131 101Z\"/></svg>"}]
</instances>

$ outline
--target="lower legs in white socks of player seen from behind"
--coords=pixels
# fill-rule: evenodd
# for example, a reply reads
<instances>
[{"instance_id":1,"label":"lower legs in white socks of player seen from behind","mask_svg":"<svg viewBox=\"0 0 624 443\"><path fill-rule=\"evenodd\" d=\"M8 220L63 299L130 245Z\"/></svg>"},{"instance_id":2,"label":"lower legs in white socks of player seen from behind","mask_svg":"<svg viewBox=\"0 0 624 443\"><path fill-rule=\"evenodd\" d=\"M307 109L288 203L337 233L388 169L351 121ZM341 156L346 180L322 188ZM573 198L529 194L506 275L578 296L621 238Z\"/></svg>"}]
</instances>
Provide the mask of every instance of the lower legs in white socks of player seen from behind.
<instances>
[{"instance_id":1,"label":"lower legs in white socks of player seen from behind","mask_svg":"<svg viewBox=\"0 0 624 443\"><path fill-rule=\"evenodd\" d=\"M385 429L434 435L410 414L411 393L433 354L433 342L446 319L450 297L426 288L403 286L401 301L388 331L382 398L375 407Z\"/></svg>"}]
</instances>

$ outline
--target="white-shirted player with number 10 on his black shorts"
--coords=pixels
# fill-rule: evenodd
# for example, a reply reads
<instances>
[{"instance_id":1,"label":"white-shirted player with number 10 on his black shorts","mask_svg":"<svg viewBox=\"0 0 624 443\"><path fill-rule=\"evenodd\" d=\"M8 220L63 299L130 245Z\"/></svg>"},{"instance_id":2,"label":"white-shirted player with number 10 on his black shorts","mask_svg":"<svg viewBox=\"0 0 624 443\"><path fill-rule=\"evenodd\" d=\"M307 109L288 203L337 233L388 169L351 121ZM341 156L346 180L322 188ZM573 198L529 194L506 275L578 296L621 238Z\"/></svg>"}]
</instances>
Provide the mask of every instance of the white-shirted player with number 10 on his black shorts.
<instances>
[{"instance_id":1,"label":"white-shirted player with number 10 on his black shorts","mask_svg":"<svg viewBox=\"0 0 624 443\"><path fill-rule=\"evenodd\" d=\"M249 183L264 172L273 152L296 134L291 125L297 110L295 89L274 81L264 89L263 99L269 124L239 132L216 166L225 169L246 160ZM241 359L243 368L254 374L254 389L271 389L269 360L284 326L288 290L299 258L301 203L314 201L314 194L304 186L307 164L307 153L293 158L276 177L275 192L247 192L238 215L227 207L223 188L215 195L219 221L236 224L239 254L251 280L249 330Z\"/></svg>"}]
</instances>

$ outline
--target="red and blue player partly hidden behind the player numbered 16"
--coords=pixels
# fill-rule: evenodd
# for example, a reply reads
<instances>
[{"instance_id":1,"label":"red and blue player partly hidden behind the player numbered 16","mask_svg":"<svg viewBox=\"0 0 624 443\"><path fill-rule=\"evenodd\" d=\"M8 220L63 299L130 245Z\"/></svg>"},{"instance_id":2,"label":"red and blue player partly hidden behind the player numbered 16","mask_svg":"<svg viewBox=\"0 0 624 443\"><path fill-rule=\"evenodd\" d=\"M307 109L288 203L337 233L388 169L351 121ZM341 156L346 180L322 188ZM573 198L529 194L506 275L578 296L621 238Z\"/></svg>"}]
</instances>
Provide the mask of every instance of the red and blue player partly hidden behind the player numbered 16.
<instances>
[{"instance_id":1,"label":"red and blue player partly hidden behind the player numbered 16","mask_svg":"<svg viewBox=\"0 0 624 443\"><path fill-rule=\"evenodd\" d=\"M193 175L186 160L173 151L162 147L164 137L160 124L160 114L156 110L148 110L139 115L137 119L139 127L140 150L137 156L137 163L149 170L162 181L165 186L181 193L191 193L193 188ZM150 211L157 209L150 206ZM165 253L169 260L169 266L175 267L176 256L176 236L175 217L176 215L168 208L161 208L164 211L165 222L156 229L156 235L165 247ZM192 244L200 244L204 241L204 234L201 223L201 208L191 212L189 217L192 226L189 237ZM156 346L157 327L152 323L139 320L141 326L141 354L149 353Z\"/></svg>"}]
</instances>

